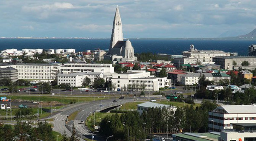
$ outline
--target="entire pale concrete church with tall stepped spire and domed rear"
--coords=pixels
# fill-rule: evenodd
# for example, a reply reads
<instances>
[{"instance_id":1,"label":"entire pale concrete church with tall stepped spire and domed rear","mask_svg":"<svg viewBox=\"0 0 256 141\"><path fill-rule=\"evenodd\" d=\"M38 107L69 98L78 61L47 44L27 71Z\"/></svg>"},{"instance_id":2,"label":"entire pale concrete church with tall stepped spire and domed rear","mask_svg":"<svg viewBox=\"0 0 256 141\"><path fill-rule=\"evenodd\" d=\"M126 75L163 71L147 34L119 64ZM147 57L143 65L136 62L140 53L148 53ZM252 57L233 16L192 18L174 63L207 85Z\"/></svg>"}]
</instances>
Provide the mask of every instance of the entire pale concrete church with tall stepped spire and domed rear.
<instances>
[{"instance_id":1,"label":"entire pale concrete church with tall stepped spire and domed rear","mask_svg":"<svg viewBox=\"0 0 256 141\"><path fill-rule=\"evenodd\" d=\"M134 56L134 48L131 41L124 41L122 33L122 21L119 14L119 8L116 8L116 14L113 20L111 42L109 51L104 59L111 59L112 62L134 62L137 57Z\"/></svg>"}]
</instances>

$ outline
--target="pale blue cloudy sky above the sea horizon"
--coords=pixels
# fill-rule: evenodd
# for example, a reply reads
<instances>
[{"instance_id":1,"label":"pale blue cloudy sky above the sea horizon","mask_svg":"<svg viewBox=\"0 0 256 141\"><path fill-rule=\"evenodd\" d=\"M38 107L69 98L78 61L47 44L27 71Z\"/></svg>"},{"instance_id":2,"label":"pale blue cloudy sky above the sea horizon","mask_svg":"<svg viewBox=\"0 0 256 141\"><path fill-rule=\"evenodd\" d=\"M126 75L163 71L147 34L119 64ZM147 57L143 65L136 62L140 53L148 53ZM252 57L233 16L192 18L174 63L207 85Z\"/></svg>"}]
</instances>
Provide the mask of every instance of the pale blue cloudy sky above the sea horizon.
<instances>
[{"instance_id":1,"label":"pale blue cloudy sky above the sea horizon","mask_svg":"<svg viewBox=\"0 0 256 141\"><path fill-rule=\"evenodd\" d=\"M0 37L207 38L256 28L256 0L0 0Z\"/></svg>"}]
</instances>

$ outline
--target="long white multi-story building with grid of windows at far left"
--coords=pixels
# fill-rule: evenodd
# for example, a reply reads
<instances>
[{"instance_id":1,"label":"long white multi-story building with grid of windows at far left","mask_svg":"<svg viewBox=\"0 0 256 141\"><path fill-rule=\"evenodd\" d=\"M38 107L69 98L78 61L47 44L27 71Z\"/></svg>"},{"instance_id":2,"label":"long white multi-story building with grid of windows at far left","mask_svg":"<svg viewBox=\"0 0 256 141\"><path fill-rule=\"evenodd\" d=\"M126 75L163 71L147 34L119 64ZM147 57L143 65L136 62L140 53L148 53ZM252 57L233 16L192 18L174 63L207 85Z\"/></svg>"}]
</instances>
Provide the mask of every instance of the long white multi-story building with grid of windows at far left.
<instances>
[{"instance_id":1,"label":"long white multi-story building with grid of windows at far left","mask_svg":"<svg viewBox=\"0 0 256 141\"><path fill-rule=\"evenodd\" d=\"M18 79L53 80L57 76L60 64L18 63L1 65L0 68L12 67L18 70Z\"/></svg>"}]
</instances>

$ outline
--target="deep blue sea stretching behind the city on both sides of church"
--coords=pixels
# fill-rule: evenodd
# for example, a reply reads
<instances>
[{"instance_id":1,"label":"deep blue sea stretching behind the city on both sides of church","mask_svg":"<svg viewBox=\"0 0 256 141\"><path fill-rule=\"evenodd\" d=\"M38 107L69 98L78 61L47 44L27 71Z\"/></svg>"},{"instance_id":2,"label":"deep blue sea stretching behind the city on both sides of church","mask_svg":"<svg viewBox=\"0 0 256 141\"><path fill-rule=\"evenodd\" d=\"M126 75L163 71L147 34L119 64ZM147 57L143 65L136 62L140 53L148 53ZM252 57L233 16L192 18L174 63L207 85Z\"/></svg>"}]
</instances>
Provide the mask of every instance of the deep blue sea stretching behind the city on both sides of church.
<instances>
[{"instance_id":1,"label":"deep blue sea stretching behind the city on both sides of church","mask_svg":"<svg viewBox=\"0 0 256 141\"><path fill-rule=\"evenodd\" d=\"M222 50L247 55L248 47L256 40L218 40L218 39L130 39L134 53L151 52L153 54L177 54L188 51L193 44L198 50ZM107 50L110 39L0 39L0 50L15 48L66 49L74 48L76 52Z\"/></svg>"}]
</instances>

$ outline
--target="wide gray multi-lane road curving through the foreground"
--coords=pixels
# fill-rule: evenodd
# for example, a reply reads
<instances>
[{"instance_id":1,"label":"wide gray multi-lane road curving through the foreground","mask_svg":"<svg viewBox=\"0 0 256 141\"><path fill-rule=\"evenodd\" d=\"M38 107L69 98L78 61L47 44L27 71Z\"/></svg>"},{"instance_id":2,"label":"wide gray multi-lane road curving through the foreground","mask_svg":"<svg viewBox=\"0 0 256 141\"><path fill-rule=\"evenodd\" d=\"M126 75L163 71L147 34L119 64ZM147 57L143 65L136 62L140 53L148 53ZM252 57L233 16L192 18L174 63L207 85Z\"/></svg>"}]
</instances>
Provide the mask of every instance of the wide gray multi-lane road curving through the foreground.
<instances>
[{"instance_id":1,"label":"wide gray multi-lane road curving through the foreground","mask_svg":"<svg viewBox=\"0 0 256 141\"><path fill-rule=\"evenodd\" d=\"M113 103L113 100L117 100L116 103ZM90 130L87 129L87 127L84 126L84 124L80 124L80 121L87 118L90 114L94 113L96 110L100 110L102 107L111 107L113 104L121 104L123 102L132 102L134 99L131 98L125 98L125 99L115 99L111 98L108 100L102 100L102 101L94 101L94 102L84 102L81 104L73 105L71 107L64 108L59 111L58 114L54 115L54 128L53 130L59 132L59 133L64 133L66 131L68 136L71 136L71 126L75 125L76 131L77 131L77 136L79 138L92 138L92 133ZM67 116L69 116L71 113L74 113L75 111L79 111L77 114L76 118L74 121L69 121L68 124L66 125L66 119ZM68 130L69 129L69 130ZM102 140L98 136L94 135L93 140L100 141ZM81 139L81 141L84 141Z\"/></svg>"}]
</instances>

